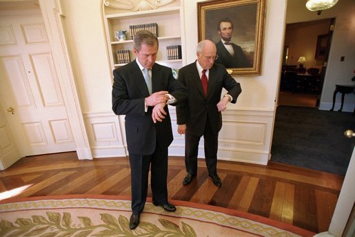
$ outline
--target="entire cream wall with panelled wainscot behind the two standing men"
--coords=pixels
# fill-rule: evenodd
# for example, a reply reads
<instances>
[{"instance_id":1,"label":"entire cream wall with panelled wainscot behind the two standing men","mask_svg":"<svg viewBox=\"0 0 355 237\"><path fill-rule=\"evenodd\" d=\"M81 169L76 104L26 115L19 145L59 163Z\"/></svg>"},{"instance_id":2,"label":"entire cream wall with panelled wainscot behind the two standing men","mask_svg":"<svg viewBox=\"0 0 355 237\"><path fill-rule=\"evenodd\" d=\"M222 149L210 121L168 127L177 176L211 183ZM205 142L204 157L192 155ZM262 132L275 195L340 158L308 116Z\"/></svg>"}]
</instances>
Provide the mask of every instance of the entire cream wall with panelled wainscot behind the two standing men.
<instances>
[{"instance_id":1,"label":"entire cream wall with panelled wainscot behind the two standing men","mask_svg":"<svg viewBox=\"0 0 355 237\"><path fill-rule=\"evenodd\" d=\"M196 0L183 1L186 62L196 59ZM111 71L105 45L101 1L61 0L63 24L83 116L94 158L127 155L122 120L111 111ZM236 104L223 113L219 135L219 158L267 164L270 158L272 129L285 30L285 0L268 0L260 76L236 77L243 93ZM176 133L170 155L184 155L183 138ZM202 144L202 141L201 141ZM203 146L199 157L203 157Z\"/></svg>"}]
</instances>

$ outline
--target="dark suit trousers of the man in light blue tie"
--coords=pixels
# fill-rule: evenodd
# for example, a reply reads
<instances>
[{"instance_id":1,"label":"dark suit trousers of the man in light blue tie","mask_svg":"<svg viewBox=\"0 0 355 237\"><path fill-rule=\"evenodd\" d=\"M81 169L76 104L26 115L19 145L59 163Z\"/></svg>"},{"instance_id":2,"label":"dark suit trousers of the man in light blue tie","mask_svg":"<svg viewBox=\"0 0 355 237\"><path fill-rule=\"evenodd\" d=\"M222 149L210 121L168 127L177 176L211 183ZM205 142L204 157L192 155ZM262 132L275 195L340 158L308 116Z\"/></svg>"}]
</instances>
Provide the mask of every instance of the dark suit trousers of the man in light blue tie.
<instances>
[{"instance_id":1,"label":"dark suit trousers of the man in light blue tie","mask_svg":"<svg viewBox=\"0 0 355 237\"><path fill-rule=\"evenodd\" d=\"M156 143L152 155L130 155L132 212L140 214L148 195L148 175L151 165L150 187L154 202L168 203L168 147L161 148Z\"/></svg>"}]
</instances>

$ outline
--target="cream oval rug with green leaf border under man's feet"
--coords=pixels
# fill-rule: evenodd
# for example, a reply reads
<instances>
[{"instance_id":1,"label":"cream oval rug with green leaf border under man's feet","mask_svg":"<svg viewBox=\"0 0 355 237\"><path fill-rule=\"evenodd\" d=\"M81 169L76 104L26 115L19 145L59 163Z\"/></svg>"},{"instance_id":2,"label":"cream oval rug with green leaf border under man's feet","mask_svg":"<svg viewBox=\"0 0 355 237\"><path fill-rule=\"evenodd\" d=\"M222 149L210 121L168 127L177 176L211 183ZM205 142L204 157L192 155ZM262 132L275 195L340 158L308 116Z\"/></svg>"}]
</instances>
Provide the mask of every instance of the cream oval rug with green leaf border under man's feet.
<instances>
[{"instance_id":1,"label":"cream oval rug with green leaf border under man's feet","mask_svg":"<svg viewBox=\"0 0 355 237\"><path fill-rule=\"evenodd\" d=\"M292 225L192 202L176 212L152 205L129 228L129 197L104 195L16 198L0 202L0 236L314 236Z\"/></svg>"}]
</instances>

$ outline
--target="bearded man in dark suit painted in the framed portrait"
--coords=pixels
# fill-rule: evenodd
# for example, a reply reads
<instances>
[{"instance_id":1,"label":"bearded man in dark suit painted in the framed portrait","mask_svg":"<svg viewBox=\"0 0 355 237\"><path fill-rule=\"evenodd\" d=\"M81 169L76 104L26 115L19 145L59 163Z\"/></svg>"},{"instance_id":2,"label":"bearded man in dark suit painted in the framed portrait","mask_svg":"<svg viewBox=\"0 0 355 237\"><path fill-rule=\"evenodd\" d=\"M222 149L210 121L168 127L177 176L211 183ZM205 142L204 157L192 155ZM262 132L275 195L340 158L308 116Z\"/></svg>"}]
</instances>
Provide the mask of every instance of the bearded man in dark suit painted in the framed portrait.
<instances>
[{"instance_id":1,"label":"bearded man in dark suit painted in the framed portrait","mask_svg":"<svg viewBox=\"0 0 355 237\"><path fill-rule=\"evenodd\" d=\"M233 29L234 25L230 19L224 18L219 21L217 32L221 40L216 44L217 55L219 55L216 62L226 68L249 68L252 65L245 57L241 46L231 42Z\"/></svg>"}]
</instances>

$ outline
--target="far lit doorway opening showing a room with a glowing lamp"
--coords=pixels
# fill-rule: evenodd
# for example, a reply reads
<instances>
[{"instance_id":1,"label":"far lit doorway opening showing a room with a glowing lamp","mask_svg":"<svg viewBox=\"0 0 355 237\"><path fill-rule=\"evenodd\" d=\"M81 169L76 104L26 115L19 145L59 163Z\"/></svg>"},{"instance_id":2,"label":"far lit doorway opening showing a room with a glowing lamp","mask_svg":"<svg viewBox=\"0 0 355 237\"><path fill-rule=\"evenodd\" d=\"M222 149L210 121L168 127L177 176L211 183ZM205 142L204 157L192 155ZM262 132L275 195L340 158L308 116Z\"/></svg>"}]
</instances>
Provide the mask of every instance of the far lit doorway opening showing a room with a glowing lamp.
<instances>
[{"instance_id":1,"label":"far lit doorway opening showing a room with a glowing lamp","mask_svg":"<svg viewBox=\"0 0 355 237\"><path fill-rule=\"evenodd\" d=\"M318 107L335 19L286 26L278 105Z\"/></svg>"}]
</instances>

